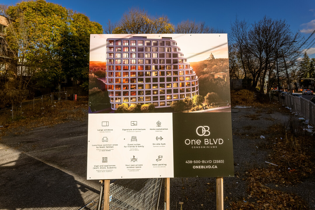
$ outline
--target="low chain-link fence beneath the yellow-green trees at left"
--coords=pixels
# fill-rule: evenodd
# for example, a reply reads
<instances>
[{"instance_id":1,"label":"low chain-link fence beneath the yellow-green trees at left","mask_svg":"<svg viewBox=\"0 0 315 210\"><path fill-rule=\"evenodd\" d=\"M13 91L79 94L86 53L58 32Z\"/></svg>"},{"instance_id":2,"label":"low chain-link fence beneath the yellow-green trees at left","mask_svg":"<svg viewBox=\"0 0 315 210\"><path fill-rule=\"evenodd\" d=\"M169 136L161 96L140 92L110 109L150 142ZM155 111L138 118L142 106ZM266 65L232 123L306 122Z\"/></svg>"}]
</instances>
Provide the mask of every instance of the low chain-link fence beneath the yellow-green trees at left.
<instances>
[{"instance_id":1,"label":"low chain-link fence beneath the yellow-green trees at left","mask_svg":"<svg viewBox=\"0 0 315 210\"><path fill-rule=\"evenodd\" d=\"M17 120L30 113L39 113L43 109L51 108L57 101L66 101L67 91L55 92L51 94L35 97L32 100L14 104L10 108L0 110L0 125L8 120Z\"/></svg>"}]
</instances>

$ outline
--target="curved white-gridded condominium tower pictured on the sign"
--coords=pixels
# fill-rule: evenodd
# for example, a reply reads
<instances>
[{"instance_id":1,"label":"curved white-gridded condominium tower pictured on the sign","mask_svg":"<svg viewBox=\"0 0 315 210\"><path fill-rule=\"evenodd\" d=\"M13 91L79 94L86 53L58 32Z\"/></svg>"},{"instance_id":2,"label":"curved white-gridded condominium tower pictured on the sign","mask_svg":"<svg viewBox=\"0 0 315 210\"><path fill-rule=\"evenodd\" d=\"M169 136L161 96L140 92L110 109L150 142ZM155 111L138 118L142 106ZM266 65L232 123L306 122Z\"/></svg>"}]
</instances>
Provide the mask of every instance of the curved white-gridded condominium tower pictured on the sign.
<instances>
[{"instance_id":1,"label":"curved white-gridded condominium tower pictured on the sign","mask_svg":"<svg viewBox=\"0 0 315 210\"><path fill-rule=\"evenodd\" d=\"M171 37L108 38L105 83L113 110L122 103L168 107L198 94L198 77Z\"/></svg>"}]
</instances>

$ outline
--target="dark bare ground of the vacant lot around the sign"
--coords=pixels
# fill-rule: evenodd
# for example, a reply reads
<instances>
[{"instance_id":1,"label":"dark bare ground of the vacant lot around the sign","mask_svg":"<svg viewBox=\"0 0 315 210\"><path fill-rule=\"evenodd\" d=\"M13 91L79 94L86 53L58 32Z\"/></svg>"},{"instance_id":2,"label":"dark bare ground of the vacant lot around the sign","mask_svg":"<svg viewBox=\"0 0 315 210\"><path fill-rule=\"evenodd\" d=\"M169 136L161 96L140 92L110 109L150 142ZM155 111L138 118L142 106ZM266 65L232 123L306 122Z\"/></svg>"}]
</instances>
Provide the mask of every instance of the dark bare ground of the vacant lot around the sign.
<instances>
[{"instance_id":1,"label":"dark bare ground of the vacant lot around the sign","mask_svg":"<svg viewBox=\"0 0 315 210\"><path fill-rule=\"evenodd\" d=\"M235 177L223 179L225 209L267 209L271 206L270 209L315 209L313 173L305 172L302 179L297 179L293 174L299 170L285 172L288 177L284 182L280 178L274 180L275 176L268 177L268 173L258 177L259 182L251 177L264 169L270 173L283 170L265 163L276 161L273 146L280 138L285 138L280 137L279 132L279 139L275 139L277 131L271 128L278 125L288 129L292 126L305 128L300 117L276 105L266 109L232 108ZM87 112L80 121L72 118L56 125L35 127L25 125L10 131L7 127L0 128L0 209L78 209L96 198L98 182L86 180ZM310 160L314 160L314 144L303 143L303 146L308 149L302 153L311 152ZM260 171L254 173L253 169ZM290 179L291 174L295 182ZM182 209L186 210L215 209L215 178L172 178L170 182L171 209L181 209L179 202L183 202ZM252 184L255 187L249 188ZM263 198L256 195L257 187L266 194L276 192L280 199L278 207L274 207L273 201L264 200L266 194ZM291 200L281 200L287 195ZM164 209L163 197L162 190L159 209ZM262 207L257 206L263 202Z\"/></svg>"}]
</instances>

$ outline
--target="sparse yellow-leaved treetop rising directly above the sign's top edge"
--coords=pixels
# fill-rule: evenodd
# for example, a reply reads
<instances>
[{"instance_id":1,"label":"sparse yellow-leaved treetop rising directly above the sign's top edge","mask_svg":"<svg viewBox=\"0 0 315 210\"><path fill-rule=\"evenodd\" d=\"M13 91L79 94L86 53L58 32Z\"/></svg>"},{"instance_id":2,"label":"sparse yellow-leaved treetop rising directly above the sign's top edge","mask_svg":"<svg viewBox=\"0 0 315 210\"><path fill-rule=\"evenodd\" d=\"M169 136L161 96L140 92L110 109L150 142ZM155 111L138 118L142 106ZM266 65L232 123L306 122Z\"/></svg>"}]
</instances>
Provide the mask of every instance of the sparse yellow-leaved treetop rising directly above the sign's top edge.
<instances>
[{"instance_id":1,"label":"sparse yellow-leaved treetop rising directly above the sign's top edge","mask_svg":"<svg viewBox=\"0 0 315 210\"><path fill-rule=\"evenodd\" d=\"M173 33L174 26L167 16L151 16L137 8L129 9L117 23L108 21L104 31L113 34Z\"/></svg>"}]
</instances>

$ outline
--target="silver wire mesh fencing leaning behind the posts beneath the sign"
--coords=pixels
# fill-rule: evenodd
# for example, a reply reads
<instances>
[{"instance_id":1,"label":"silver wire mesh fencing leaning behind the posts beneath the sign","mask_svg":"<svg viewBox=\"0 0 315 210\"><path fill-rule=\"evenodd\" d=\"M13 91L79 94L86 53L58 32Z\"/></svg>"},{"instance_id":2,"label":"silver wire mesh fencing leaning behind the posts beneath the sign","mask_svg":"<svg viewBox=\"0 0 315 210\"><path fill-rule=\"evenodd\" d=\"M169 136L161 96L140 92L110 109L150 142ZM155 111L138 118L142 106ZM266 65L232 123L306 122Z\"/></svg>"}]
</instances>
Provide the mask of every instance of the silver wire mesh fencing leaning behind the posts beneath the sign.
<instances>
[{"instance_id":1,"label":"silver wire mesh fencing leaning behind the posts beneath the sign","mask_svg":"<svg viewBox=\"0 0 315 210\"><path fill-rule=\"evenodd\" d=\"M140 189L133 189L133 187L126 186L119 182L110 185L109 195L111 201L109 202L110 210L157 210L160 191L162 187L162 178L154 179L136 179L137 187ZM104 198L100 209L103 209ZM83 209L96 210L98 201L91 201L89 205Z\"/></svg>"}]
</instances>

